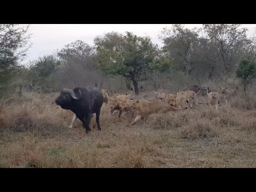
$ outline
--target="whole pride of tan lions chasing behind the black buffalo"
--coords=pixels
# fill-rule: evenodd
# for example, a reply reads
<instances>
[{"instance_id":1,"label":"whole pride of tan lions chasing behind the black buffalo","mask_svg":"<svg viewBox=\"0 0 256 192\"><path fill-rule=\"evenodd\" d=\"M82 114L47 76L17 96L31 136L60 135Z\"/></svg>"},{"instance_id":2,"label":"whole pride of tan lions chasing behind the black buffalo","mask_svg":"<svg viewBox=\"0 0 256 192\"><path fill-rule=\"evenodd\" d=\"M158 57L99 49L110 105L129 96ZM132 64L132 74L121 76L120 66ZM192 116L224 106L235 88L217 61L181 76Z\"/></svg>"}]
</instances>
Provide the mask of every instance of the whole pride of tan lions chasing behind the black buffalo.
<instances>
[{"instance_id":1,"label":"whole pride of tan lions chasing behind the black buffalo","mask_svg":"<svg viewBox=\"0 0 256 192\"><path fill-rule=\"evenodd\" d=\"M221 88L221 94L218 92L211 91L207 87L207 104L209 107L215 106L215 110L218 110L219 102L221 98L226 101L228 105L228 100L237 93L238 87L236 89L228 89L228 87ZM121 115L127 116L131 115L134 118L131 125L134 125L139 119L143 119L147 122L147 119L151 114L157 113L167 113L168 111L180 111L189 110L189 108L194 108L198 105L197 95L200 93L200 88L198 92L195 91L179 91L176 95L167 94L162 91L154 91L154 98L151 99L134 99L132 98L132 89L130 94L115 94L112 97L109 96L108 91L102 89L103 102L109 108L109 115L114 115L117 112L118 118ZM71 125L72 127L76 116L73 116Z\"/></svg>"}]
</instances>

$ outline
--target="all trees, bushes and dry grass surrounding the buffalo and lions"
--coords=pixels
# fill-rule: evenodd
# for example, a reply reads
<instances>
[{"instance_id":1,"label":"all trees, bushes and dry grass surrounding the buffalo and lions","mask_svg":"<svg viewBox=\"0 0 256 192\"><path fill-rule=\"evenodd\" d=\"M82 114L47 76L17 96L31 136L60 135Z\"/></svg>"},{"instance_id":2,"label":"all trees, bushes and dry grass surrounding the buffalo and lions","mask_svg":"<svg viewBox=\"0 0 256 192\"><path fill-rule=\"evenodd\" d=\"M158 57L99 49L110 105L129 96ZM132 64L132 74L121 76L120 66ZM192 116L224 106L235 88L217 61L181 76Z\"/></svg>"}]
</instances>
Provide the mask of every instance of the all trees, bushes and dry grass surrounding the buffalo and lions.
<instances>
[{"instance_id":1,"label":"all trees, bushes and dry grass surrounding the buffalo and lions","mask_svg":"<svg viewBox=\"0 0 256 192\"><path fill-rule=\"evenodd\" d=\"M256 39L246 28L175 24L159 31L161 47L113 31L21 65L33 46L28 29L0 24L0 167L256 167ZM238 93L218 110L201 95L191 110L134 126L103 103L102 131L89 134L80 121L70 129L73 113L54 102L63 87L96 86L110 96L132 88L142 99L193 84Z\"/></svg>"}]
</instances>

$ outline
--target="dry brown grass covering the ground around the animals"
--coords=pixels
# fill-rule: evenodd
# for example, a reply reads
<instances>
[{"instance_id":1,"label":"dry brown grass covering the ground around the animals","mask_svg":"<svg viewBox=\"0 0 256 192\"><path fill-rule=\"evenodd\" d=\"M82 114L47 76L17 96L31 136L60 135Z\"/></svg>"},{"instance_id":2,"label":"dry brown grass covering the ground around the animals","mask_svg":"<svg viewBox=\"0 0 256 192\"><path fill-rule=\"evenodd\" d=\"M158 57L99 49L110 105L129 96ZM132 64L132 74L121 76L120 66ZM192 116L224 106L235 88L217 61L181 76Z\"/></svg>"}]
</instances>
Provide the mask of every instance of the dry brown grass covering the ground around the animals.
<instances>
[{"instance_id":1,"label":"dry brown grass covering the ground around the animals","mask_svg":"<svg viewBox=\"0 0 256 192\"><path fill-rule=\"evenodd\" d=\"M256 167L256 101L239 95L219 111L199 105L151 115L148 123L108 116L86 134L57 94L10 98L0 113L0 167ZM204 98L201 102L206 102ZM7 103L7 105L6 105Z\"/></svg>"}]
</instances>

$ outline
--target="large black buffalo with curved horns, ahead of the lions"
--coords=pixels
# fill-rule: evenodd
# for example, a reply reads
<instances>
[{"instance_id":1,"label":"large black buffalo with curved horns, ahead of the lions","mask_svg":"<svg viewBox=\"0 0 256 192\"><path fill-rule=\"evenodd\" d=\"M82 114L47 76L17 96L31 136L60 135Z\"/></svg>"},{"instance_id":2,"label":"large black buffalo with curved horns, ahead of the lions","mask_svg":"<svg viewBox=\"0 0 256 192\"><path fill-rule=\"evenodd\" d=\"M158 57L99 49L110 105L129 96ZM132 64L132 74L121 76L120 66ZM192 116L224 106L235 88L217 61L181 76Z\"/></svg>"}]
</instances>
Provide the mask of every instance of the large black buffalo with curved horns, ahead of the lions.
<instances>
[{"instance_id":1,"label":"large black buffalo with curved horns, ahead of the lions","mask_svg":"<svg viewBox=\"0 0 256 192\"><path fill-rule=\"evenodd\" d=\"M100 108L103 103L103 95L97 87L75 87L74 90L64 88L55 103L62 109L69 109L81 120L86 132L91 131L89 124L94 113L98 130L100 127Z\"/></svg>"}]
</instances>

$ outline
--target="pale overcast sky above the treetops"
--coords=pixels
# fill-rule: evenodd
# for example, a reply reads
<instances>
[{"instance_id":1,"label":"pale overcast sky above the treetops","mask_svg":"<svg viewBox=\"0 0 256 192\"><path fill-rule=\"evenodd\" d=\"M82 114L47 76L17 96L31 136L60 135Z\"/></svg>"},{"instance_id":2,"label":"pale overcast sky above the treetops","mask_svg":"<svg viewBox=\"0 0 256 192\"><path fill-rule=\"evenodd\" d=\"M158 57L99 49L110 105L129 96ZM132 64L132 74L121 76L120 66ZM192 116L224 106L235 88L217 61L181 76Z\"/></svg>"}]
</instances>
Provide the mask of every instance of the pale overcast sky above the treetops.
<instances>
[{"instance_id":1,"label":"pale overcast sky above the treetops","mask_svg":"<svg viewBox=\"0 0 256 192\"><path fill-rule=\"evenodd\" d=\"M154 43L162 45L158 39L160 31L172 24L32 24L29 33L32 34L30 42L33 43L28 50L28 56L24 62L37 59L39 56L51 54L64 45L78 39L93 45L93 38L111 31L124 34L131 31L135 35L150 36ZM186 24L187 28L202 27L202 24ZM252 35L256 24L243 24L249 29L248 35Z\"/></svg>"}]
</instances>

